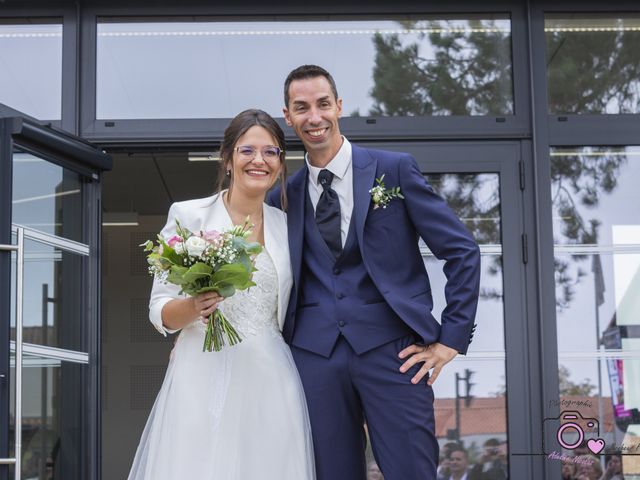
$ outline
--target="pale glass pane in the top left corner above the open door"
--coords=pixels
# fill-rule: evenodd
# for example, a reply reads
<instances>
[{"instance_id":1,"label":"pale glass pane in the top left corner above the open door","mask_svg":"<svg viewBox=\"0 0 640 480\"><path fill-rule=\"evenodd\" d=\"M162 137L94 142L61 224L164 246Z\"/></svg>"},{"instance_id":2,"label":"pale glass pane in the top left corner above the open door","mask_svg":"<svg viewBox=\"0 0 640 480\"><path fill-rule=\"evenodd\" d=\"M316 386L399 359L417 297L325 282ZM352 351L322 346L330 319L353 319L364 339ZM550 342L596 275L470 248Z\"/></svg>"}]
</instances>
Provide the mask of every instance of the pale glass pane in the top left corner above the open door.
<instances>
[{"instance_id":1,"label":"pale glass pane in the top left corner above the open door","mask_svg":"<svg viewBox=\"0 0 640 480\"><path fill-rule=\"evenodd\" d=\"M60 120L62 24L0 19L0 103L40 120Z\"/></svg>"}]
</instances>

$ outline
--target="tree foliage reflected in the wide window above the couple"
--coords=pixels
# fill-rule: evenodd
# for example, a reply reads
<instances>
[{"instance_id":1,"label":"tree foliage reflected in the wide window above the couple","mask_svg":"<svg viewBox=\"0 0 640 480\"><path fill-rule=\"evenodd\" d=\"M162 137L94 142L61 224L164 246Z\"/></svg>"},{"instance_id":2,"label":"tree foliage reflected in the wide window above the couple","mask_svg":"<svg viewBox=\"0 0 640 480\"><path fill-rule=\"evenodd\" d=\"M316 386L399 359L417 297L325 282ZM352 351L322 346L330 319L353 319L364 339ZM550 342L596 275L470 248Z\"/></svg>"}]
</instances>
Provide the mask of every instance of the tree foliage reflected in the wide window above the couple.
<instances>
[{"instance_id":1,"label":"tree foliage reflected in the wide window above the couple","mask_svg":"<svg viewBox=\"0 0 640 480\"><path fill-rule=\"evenodd\" d=\"M511 37L489 20L404 22L428 29L408 36L380 34L370 115L486 115L513 111ZM496 31L484 30L496 28ZM483 31L478 31L482 29ZM423 56L427 51L427 56Z\"/></svg>"}]
</instances>

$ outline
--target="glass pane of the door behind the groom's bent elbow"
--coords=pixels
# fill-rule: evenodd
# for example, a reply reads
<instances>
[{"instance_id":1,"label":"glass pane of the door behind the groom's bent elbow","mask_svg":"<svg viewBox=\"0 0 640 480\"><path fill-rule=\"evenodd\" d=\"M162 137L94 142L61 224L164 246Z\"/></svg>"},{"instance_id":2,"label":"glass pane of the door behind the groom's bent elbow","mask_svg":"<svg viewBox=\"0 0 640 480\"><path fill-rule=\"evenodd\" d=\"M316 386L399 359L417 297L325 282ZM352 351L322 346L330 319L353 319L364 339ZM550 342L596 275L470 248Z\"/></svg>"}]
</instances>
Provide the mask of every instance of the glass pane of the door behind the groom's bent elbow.
<instances>
[{"instance_id":1,"label":"glass pane of the door behind the groom's bent elbow","mask_svg":"<svg viewBox=\"0 0 640 480\"><path fill-rule=\"evenodd\" d=\"M506 478L507 411L504 360L504 299L502 275L500 176L429 174L429 183L446 199L472 232L481 248L480 301L477 331L468 357L458 357L434 384L437 436L441 447L440 473L451 475L450 444L460 441L474 478ZM446 306L444 262L425 257L433 293L433 313ZM469 395L469 399L465 397ZM455 460L458 452L451 454ZM456 468L454 466L454 468ZM482 476L484 475L484 477Z\"/></svg>"}]
</instances>

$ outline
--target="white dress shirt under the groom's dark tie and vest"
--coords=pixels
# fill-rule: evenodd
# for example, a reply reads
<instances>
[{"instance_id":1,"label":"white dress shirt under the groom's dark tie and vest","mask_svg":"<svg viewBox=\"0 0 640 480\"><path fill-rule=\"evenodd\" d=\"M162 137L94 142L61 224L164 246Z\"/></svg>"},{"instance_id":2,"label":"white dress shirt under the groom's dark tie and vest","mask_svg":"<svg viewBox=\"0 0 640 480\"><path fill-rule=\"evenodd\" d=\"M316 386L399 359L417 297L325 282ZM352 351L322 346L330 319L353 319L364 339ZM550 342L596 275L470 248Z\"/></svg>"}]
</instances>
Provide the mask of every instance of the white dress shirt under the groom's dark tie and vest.
<instances>
[{"instance_id":1,"label":"white dress shirt under the groom's dark tie and vest","mask_svg":"<svg viewBox=\"0 0 640 480\"><path fill-rule=\"evenodd\" d=\"M351 161L351 144L349 140L342 137L342 146L336 156L324 168L318 168L311 165L309 155L305 155L305 161L309 168L309 197L313 211L316 211L316 205L322 194L322 185L318 183L318 175L321 170L329 170L333 173L333 181L331 188L338 194L340 200L340 233L342 238L342 246L344 247L349 234L349 224L351 223L351 214L353 212L353 165Z\"/></svg>"}]
</instances>

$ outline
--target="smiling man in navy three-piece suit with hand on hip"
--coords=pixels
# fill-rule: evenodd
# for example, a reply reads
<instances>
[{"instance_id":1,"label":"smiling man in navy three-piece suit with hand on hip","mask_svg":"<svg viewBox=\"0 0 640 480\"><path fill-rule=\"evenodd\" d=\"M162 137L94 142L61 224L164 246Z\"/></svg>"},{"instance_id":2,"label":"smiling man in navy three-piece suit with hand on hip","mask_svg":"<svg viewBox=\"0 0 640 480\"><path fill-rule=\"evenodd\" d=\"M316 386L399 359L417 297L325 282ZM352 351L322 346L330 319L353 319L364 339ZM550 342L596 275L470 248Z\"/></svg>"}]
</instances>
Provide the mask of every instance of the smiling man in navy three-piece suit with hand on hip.
<instances>
[{"instance_id":1,"label":"smiling man in navy three-piece suit with hand on hip","mask_svg":"<svg viewBox=\"0 0 640 480\"><path fill-rule=\"evenodd\" d=\"M286 185L294 287L283 334L307 397L318 480L364 480L365 422L385 480L435 479L431 385L473 336L478 246L411 156L340 134L342 99L326 70L293 70L284 100L307 154ZM374 195L376 179L384 188ZM279 199L279 190L269 197ZM419 236L446 261L441 323Z\"/></svg>"}]
</instances>

